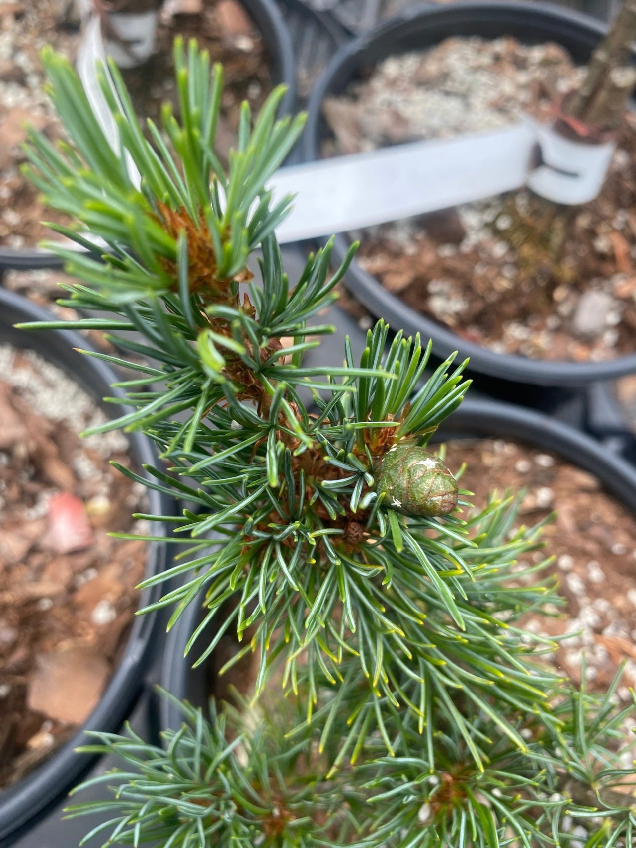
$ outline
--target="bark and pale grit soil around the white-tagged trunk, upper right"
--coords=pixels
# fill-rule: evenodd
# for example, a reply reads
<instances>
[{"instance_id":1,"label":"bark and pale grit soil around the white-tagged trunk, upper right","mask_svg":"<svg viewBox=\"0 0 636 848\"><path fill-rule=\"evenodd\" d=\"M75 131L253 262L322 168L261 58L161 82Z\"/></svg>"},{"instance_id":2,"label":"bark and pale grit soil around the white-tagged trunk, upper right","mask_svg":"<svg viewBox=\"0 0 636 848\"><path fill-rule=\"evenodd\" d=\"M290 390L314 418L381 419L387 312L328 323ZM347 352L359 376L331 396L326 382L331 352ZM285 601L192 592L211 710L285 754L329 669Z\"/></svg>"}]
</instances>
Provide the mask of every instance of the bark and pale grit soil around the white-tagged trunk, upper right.
<instances>
[{"instance_id":1,"label":"bark and pale grit soil around the white-tagged trunk, upper right","mask_svg":"<svg viewBox=\"0 0 636 848\"><path fill-rule=\"evenodd\" d=\"M325 103L324 153L547 120L583 70L555 44L450 38L386 59ZM600 196L574 209L522 190L352 233L360 265L413 309L499 353L609 360L636 339L636 120Z\"/></svg>"}]
</instances>

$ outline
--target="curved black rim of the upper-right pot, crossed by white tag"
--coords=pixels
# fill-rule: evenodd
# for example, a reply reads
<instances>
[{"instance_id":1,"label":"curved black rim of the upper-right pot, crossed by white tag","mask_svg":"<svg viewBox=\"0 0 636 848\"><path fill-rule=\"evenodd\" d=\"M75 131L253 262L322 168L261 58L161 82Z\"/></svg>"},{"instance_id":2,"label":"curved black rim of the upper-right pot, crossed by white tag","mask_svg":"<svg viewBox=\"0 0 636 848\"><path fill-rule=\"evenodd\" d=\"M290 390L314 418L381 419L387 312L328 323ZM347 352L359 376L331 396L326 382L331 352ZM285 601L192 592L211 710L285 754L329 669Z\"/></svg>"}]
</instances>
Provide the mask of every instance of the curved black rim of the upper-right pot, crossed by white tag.
<instances>
[{"instance_id":1,"label":"curved black rim of the upper-right pot, crossed by white tag","mask_svg":"<svg viewBox=\"0 0 636 848\"><path fill-rule=\"evenodd\" d=\"M560 34L565 34L571 39L583 39L583 36L589 36L590 44L598 42L606 31L606 27L600 21L586 14L566 8L555 8L546 3L527 3L524 0L516 3L501 3L499 0L487 0L487 2L457 0L449 5L409 8L386 21L376 30L341 47L334 55L311 93L307 125L303 136L303 160L309 162L319 158L321 105L343 69L350 65L350 78L355 65L361 62L367 50L390 40L396 34L408 32L417 22L451 24L458 18L470 20L475 26L492 20L501 21L504 25L507 23L519 25L526 20L528 22L535 20L546 28L553 25L556 30L555 40L558 40ZM385 55L391 55L390 48ZM321 240L321 243L326 243L326 240ZM334 241L334 258L342 261L349 245L349 239L343 233L338 233ZM455 332L432 318L411 310L402 300L384 288L376 277L365 271L356 259L352 262L344 283L360 300L360 303L373 315L384 317L393 330L403 329L407 335L419 332L424 338L432 338L433 353L441 360L459 351L461 359L470 358L469 370L472 372L538 386L582 386L590 382L616 379L636 371L636 353L614 360L582 363L567 360L532 360L518 354L497 354L481 345L460 338Z\"/></svg>"}]
</instances>

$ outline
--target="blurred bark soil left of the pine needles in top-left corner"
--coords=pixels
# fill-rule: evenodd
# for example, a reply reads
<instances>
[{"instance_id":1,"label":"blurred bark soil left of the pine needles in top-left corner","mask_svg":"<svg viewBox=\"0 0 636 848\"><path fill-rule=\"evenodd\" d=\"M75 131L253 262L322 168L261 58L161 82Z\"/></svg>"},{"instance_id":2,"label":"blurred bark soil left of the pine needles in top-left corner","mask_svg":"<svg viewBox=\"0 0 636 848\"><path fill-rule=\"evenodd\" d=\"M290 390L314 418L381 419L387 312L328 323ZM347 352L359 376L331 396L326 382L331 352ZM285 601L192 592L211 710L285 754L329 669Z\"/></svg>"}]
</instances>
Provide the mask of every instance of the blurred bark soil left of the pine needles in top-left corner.
<instances>
[{"instance_id":1,"label":"blurred bark soil left of the pine needles in top-left corner","mask_svg":"<svg viewBox=\"0 0 636 848\"><path fill-rule=\"evenodd\" d=\"M62 126L44 92L39 53L50 45L75 59L80 20L74 0L0 2L0 246L36 247L55 237L42 220L64 222L39 200L36 187L20 174L25 153L25 123L51 140L63 137Z\"/></svg>"}]
</instances>

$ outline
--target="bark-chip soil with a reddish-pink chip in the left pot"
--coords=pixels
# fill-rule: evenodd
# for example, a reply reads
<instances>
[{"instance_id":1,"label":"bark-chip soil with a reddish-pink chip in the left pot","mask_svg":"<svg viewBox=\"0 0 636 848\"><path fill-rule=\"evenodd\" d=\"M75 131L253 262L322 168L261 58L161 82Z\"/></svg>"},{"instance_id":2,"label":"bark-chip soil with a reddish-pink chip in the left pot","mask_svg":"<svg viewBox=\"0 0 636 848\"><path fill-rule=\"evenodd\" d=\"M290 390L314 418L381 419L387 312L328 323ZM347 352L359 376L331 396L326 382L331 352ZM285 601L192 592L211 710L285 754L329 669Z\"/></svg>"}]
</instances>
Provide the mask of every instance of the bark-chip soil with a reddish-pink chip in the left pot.
<instances>
[{"instance_id":1,"label":"bark-chip soil with a reddish-pink chip in the left pot","mask_svg":"<svg viewBox=\"0 0 636 848\"><path fill-rule=\"evenodd\" d=\"M97 705L137 609L143 488L120 433L31 351L0 345L0 790L18 782Z\"/></svg>"}]
</instances>

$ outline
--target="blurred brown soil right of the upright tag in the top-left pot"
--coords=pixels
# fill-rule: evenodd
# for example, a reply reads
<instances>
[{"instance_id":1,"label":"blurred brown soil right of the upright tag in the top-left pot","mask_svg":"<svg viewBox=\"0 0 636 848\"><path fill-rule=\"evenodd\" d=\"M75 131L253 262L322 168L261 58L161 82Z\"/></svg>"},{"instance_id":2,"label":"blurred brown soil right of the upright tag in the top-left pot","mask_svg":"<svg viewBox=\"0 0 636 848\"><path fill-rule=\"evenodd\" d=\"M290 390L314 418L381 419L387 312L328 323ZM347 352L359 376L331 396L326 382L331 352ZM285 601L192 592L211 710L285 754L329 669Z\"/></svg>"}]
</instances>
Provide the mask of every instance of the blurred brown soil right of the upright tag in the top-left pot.
<instances>
[{"instance_id":1,"label":"blurred brown soil right of the upright tag in the top-left pot","mask_svg":"<svg viewBox=\"0 0 636 848\"><path fill-rule=\"evenodd\" d=\"M189 9L189 14L181 10ZM273 87L271 59L254 22L237 0L177 0L165 3L159 19L157 49L141 68L123 72L137 115L161 126L162 103L170 103L175 113L177 97L172 44L176 36L187 42L195 38L209 51L211 62L223 65L224 89L216 152L227 161L228 150L236 144L241 103L247 100L258 112Z\"/></svg>"}]
</instances>

